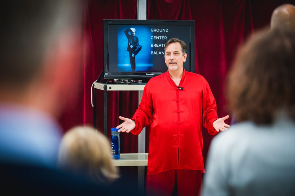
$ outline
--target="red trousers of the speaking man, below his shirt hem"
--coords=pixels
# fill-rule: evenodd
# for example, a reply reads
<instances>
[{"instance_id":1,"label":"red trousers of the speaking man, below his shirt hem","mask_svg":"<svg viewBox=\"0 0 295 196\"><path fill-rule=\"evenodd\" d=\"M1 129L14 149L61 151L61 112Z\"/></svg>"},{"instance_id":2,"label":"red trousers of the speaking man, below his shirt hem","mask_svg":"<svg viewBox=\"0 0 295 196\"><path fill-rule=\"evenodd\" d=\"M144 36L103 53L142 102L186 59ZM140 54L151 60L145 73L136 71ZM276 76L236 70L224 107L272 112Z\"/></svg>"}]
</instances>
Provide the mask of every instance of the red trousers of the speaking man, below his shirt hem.
<instances>
[{"instance_id":1,"label":"red trousers of the speaking man, below his shirt hem","mask_svg":"<svg viewBox=\"0 0 295 196\"><path fill-rule=\"evenodd\" d=\"M176 169L147 175L147 196L171 196L175 181L178 196L197 196L202 187L201 171Z\"/></svg>"}]
</instances>

